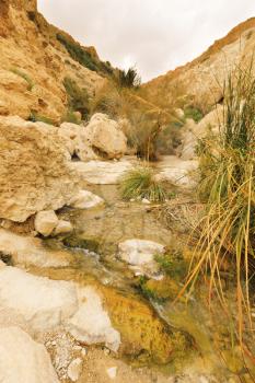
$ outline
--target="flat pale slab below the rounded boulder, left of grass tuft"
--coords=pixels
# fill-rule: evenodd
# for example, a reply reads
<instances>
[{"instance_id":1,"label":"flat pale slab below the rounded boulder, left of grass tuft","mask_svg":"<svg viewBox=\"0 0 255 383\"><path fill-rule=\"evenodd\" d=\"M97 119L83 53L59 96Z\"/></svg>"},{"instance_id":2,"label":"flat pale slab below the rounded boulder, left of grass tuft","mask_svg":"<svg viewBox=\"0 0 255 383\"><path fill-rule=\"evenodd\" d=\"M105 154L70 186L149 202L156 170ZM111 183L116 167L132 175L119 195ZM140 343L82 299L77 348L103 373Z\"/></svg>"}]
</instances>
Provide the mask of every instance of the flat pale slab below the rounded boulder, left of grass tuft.
<instances>
[{"instance_id":1,"label":"flat pale slab below the rounded boulder, left of grass tuft","mask_svg":"<svg viewBox=\"0 0 255 383\"><path fill-rule=\"evenodd\" d=\"M77 162L73 165L81 179L94 185L116 185L121 176L132 169L132 164L126 160L117 162Z\"/></svg>"}]
</instances>

